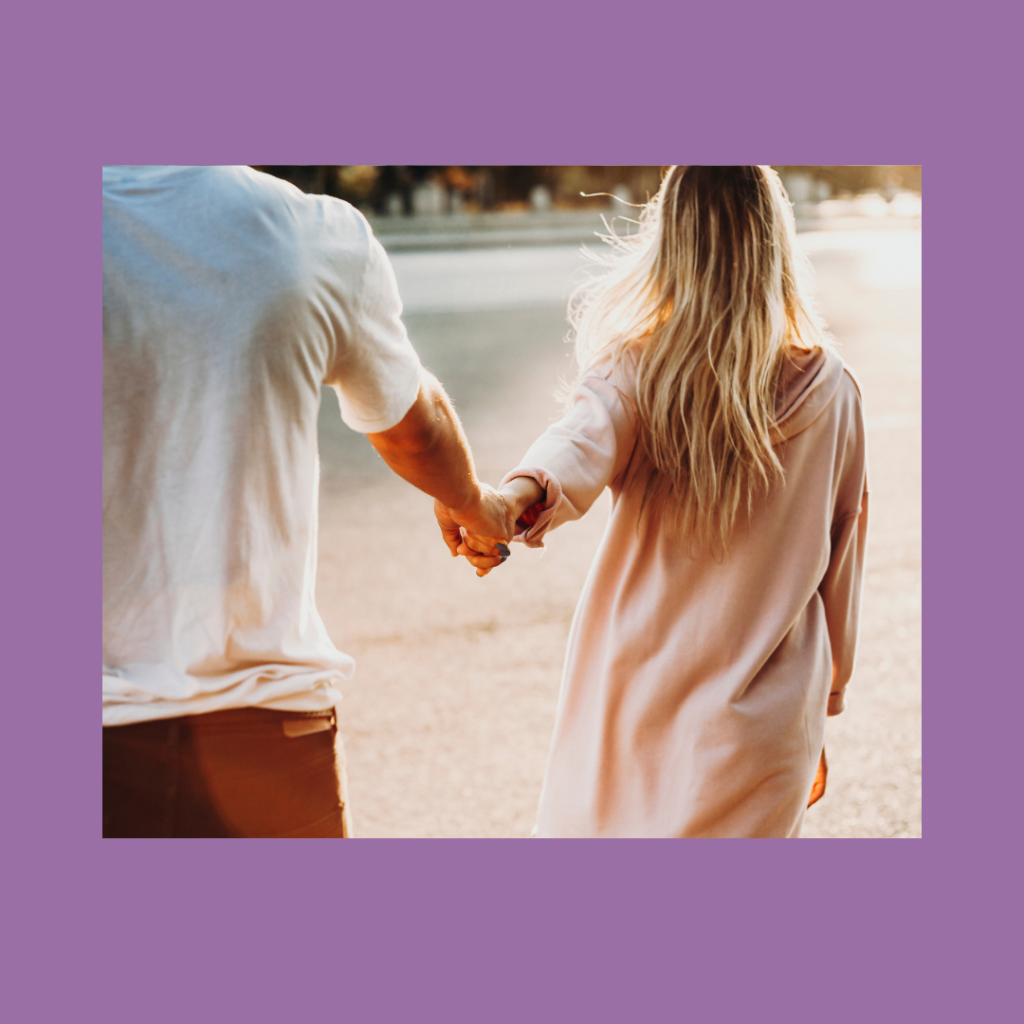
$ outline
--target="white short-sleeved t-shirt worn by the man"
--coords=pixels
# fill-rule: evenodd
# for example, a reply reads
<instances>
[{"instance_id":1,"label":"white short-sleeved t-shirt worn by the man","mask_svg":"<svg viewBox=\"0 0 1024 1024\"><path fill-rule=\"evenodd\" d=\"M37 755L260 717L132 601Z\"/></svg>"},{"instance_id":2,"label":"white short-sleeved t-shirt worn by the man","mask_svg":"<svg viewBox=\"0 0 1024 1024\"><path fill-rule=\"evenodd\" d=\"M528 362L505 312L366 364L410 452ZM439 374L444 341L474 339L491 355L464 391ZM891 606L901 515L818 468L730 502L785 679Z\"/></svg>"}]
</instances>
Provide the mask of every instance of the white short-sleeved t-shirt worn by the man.
<instances>
[{"instance_id":1,"label":"white short-sleeved t-shirt worn by the man","mask_svg":"<svg viewBox=\"0 0 1024 1024\"><path fill-rule=\"evenodd\" d=\"M103 170L103 725L318 711L321 385L365 433L420 384L366 219L248 168Z\"/></svg>"}]
</instances>

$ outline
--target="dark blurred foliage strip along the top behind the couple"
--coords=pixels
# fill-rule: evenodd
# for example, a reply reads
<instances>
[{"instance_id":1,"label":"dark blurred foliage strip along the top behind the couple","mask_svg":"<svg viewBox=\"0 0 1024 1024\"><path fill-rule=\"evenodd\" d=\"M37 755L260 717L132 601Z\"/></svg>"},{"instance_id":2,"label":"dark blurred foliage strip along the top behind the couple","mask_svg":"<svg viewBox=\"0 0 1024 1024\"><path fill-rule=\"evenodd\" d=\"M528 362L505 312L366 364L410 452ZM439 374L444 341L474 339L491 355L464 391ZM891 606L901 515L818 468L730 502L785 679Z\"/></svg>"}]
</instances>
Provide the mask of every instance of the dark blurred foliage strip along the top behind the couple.
<instances>
[{"instance_id":1,"label":"dark blurred foliage strip along the top behind the couple","mask_svg":"<svg viewBox=\"0 0 1024 1024\"><path fill-rule=\"evenodd\" d=\"M609 195L643 203L663 167L259 166L303 191L336 196L377 216L604 208ZM920 166L780 165L795 203L921 193Z\"/></svg>"}]
</instances>

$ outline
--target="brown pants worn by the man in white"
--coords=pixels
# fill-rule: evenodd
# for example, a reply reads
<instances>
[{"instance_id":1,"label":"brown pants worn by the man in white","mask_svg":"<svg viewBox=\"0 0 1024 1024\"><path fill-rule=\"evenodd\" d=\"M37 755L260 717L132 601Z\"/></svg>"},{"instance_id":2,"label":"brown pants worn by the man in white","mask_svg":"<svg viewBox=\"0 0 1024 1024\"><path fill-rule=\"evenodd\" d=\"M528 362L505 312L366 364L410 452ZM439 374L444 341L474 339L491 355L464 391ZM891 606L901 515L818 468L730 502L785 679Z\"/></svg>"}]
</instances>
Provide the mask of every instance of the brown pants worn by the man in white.
<instances>
[{"instance_id":1,"label":"brown pants worn by the man in white","mask_svg":"<svg viewBox=\"0 0 1024 1024\"><path fill-rule=\"evenodd\" d=\"M104 837L349 835L333 711L239 708L103 729Z\"/></svg>"}]
</instances>

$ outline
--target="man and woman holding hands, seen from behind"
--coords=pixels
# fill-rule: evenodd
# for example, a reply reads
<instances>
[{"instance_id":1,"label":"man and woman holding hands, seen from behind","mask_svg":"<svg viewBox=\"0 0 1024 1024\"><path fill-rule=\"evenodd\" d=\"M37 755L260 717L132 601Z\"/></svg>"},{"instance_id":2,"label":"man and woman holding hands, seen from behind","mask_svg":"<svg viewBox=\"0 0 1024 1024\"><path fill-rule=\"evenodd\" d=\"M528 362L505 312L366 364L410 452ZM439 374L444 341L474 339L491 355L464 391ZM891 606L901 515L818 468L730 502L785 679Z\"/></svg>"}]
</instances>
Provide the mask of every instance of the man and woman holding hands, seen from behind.
<instances>
[{"instance_id":1,"label":"man and woman holding hands, seen from behind","mask_svg":"<svg viewBox=\"0 0 1024 1024\"><path fill-rule=\"evenodd\" d=\"M316 409L485 575L612 497L539 837L800 835L853 671L859 387L768 167L669 168L570 308L580 376L498 489L365 220L249 169L103 181L103 834L347 836L315 610Z\"/></svg>"}]
</instances>

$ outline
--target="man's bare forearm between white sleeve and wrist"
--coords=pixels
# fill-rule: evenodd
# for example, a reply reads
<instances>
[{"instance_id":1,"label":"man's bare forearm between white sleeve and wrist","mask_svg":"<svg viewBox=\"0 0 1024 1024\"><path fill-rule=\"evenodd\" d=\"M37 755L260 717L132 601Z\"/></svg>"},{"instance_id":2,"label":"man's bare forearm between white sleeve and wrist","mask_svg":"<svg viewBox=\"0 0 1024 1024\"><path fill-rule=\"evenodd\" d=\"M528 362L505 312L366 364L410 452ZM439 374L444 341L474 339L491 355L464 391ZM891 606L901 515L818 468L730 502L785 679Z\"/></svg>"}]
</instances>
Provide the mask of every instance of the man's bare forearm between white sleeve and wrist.
<instances>
[{"instance_id":1,"label":"man's bare forearm between white sleeve and wrist","mask_svg":"<svg viewBox=\"0 0 1024 1024\"><path fill-rule=\"evenodd\" d=\"M432 374L424 372L420 393L400 423L367 436L398 476L450 508L468 508L479 501L480 485L462 424Z\"/></svg>"}]
</instances>

